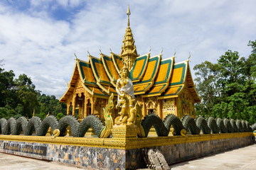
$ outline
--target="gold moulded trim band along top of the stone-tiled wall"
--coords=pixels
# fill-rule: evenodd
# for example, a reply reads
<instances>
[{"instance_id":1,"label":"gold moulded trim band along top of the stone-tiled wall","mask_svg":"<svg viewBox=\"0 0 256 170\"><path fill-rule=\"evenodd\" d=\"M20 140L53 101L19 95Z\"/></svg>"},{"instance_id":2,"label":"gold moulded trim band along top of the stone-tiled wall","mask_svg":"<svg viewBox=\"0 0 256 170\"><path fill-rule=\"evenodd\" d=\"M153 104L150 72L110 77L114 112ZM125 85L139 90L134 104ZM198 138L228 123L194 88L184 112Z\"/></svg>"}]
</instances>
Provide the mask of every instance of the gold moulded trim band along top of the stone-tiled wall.
<instances>
[{"instance_id":1,"label":"gold moulded trim band along top of the stone-tiled wall","mask_svg":"<svg viewBox=\"0 0 256 170\"><path fill-rule=\"evenodd\" d=\"M190 142L201 142L208 140L220 140L233 137L249 137L253 132L220 133L207 135L186 135L170 137L141 137L113 140L113 138L87 138L87 137L56 137L50 136L24 136L24 135L0 135L0 140L11 140L19 142L39 142L55 145L75 145L82 147L104 147L113 149L138 149L144 147L159 147L164 145L175 145Z\"/></svg>"}]
</instances>

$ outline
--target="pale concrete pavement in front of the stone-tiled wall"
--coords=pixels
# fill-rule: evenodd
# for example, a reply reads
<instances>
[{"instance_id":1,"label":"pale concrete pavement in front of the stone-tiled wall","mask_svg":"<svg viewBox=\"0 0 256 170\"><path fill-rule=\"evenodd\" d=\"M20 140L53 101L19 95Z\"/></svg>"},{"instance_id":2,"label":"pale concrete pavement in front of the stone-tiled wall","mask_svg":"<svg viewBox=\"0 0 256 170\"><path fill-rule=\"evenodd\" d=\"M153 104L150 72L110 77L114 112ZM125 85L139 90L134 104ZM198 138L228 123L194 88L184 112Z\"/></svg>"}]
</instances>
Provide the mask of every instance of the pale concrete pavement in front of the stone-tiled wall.
<instances>
[{"instance_id":1,"label":"pale concrete pavement in front of the stone-tiled wall","mask_svg":"<svg viewBox=\"0 0 256 170\"><path fill-rule=\"evenodd\" d=\"M185 169L247 169L256 170L256 145L242 147L201 159L170 166L171 170ZM80 170L75 166L45 162L37 159L0 153L0 170Z\"/></svg>"}]
</instances>

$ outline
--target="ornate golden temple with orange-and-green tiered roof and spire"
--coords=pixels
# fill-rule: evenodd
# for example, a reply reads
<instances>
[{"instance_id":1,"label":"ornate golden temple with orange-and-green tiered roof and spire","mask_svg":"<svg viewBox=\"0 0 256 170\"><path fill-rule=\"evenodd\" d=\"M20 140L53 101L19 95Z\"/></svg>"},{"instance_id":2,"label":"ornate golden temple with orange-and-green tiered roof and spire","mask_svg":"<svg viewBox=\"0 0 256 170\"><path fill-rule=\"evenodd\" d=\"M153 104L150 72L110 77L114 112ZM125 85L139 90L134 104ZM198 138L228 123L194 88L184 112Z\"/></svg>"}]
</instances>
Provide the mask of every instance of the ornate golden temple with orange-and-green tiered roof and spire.
<instances>
[{"instance_id":1,"label":"ornate golden temple with orange-and-green tiered roof and spire","mask_svg":"<svg viewBox=\"0 0 256 170\"><path fill-rule=\"evenodd\" d=\"M162 59L161 54L139 56L129 26L130 14L128 6L127 29L119 55L110 52L108 56L100 52L100 57L93 57L89 54L87 62L76 58L68 89L60 98L60 102L67 103L67 114L75 115L78 120L87 115L97 115L104 120L103 108L110 94L114 94L117 102L115 87L125 65L129 69L134 95L142 106L142 115L155 113L162 119L169 114L195 118L194 104L201 99L193 83L189 60L176 63L175 56L166 59ZM114 109L112 116L117 117L117 113Z\"/></svg>"}]
</instances>

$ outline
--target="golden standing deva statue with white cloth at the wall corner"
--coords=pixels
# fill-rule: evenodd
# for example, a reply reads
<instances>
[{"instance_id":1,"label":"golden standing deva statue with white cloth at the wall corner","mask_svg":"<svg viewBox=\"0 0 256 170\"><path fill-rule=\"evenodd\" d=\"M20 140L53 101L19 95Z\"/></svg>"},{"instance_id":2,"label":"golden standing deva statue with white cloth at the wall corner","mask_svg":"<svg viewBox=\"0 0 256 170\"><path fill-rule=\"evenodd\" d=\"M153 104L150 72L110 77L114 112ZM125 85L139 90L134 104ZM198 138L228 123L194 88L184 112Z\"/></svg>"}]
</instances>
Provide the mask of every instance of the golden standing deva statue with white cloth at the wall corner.
<instances>
[{"instance_id":1,"label":"golden standing deva statue with white cloth at the wall corner","mask_svg":"<svg viewBox=\"0 0 256 170\"><path fill-rule=\"evenodd\" d=\"M114 122L117 125L134 125L134 105L136 100L134 98L134 87L132 80L129 79L129 69L124 66L120 72L120 78L117 80L116 86L118 98L116 108L121 108L119 116L115 118Z\"/></svg>"}]
</instances>

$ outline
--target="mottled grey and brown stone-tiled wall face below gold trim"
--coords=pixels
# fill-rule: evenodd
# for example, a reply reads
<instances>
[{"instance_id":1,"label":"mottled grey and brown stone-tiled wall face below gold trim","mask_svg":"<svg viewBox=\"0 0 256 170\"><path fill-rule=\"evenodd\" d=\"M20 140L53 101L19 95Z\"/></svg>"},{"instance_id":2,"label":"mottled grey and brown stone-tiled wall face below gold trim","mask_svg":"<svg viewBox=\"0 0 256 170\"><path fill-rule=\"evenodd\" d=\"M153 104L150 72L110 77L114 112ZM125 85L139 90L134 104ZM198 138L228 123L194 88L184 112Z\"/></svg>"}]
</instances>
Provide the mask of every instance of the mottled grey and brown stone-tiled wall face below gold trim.
<instances>
[{"instance_id":1,"label":"mottled grey and brown stone-tiled wall face below gold trim","mask_svg":"<svg viewBox=\"0 0 256 170\"><path fill-rule=\"evenodd\" d=\"M150 147L159 149L169 164L217 154L252 143L252 137L233 137ZM149 147L147 147L149 149ZM111 149L0 140L0 152L96 169L139 169L146 165L140 149Z\"/></svg>"}]
</instances>

